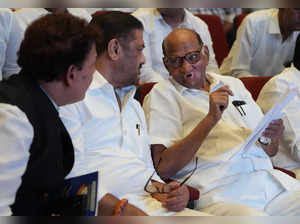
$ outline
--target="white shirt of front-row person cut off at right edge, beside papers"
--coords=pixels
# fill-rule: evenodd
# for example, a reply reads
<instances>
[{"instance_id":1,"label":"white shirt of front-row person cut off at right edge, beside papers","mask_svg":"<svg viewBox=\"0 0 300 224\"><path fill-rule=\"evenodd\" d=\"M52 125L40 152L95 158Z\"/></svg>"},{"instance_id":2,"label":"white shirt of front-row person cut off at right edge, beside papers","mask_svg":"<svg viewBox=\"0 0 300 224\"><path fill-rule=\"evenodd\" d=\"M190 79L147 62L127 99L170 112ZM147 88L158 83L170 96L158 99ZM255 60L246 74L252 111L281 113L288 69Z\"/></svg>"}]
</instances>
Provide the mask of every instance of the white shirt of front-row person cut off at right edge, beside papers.
<instances>
[{"instance_id":1,"label":"white shirt of front-row person cut off at right edge, beside papers","mask_svg":"<svg viewBox=\"0 0 300 224\"><path fill-rule=\"evenodd\" d=\"M288 85L296 85L300 91L300 71L295 67L285 69L273 77L261 90L257 103L263 112L268 112L288 91ZM286 169L300 168L300 97L297 95L285 108L284 134L279 153L272 158L275 166Z\"/></svg>"}]
</instances>

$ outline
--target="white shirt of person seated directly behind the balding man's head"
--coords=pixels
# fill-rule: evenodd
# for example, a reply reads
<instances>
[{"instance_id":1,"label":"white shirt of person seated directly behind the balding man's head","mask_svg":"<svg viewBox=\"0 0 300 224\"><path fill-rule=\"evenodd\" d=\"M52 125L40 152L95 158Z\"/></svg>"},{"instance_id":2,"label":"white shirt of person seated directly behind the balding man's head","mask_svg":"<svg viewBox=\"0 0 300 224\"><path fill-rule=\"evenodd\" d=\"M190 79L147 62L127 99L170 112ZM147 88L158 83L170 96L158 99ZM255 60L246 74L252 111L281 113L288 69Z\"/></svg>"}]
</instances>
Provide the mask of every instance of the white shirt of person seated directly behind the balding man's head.
<instances>
[{"instance_id":1,"label":"white shirt of person seated directly behind the balding man's head","mask_svg":"<svg viewBox=\"0 0 300 224\"><path fill-rule=\"evenodd\" d=\"M219 68L212 48L212 40L205 22L194 16L188 10L185 11L184 21L178 28L189 28L195 30L201 37L203 43L209 49L208 70L218 72ZM144 25L144 55L146 63L141 69L140 81L158 82L169 77L169 73L163 64L162 42L164 38L172 31L163 19L157 9L142 8L135 11L132 15L137 17Z\"/></svg>"}]
</instances>

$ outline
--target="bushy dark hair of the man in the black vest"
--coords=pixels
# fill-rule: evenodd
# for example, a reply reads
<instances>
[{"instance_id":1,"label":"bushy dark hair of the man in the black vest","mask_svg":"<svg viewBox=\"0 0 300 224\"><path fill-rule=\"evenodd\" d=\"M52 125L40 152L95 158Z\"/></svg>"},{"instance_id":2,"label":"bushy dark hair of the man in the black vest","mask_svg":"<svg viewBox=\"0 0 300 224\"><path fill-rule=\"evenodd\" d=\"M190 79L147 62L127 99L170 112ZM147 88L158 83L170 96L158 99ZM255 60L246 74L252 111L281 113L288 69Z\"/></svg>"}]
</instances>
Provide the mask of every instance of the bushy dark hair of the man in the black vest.
<instances>
[{"instance_id":1,"label":"bushy dark hair of the man in the black vest","mask_svg":"<svg viewBox=\"0 0 300 224\"><path fill-rule=\"evenodd\" d=\"M48 14L28 26L18 52L23 74L37 81L62 79L71 65L82 68L96 32L71 14Z\"/></svg>"}]
</instances>

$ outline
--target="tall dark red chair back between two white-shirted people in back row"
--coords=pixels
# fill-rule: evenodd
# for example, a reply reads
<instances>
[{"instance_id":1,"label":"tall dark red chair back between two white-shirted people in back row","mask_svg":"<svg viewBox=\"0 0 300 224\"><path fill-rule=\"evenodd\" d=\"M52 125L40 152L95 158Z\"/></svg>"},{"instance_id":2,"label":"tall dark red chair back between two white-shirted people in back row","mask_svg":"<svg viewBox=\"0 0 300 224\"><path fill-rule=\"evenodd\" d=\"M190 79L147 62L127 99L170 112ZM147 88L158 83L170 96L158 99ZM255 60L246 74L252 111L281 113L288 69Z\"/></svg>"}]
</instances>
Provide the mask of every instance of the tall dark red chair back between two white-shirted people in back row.
<instances>
[{"instance_id":1,"label":"tall dark red chair back between two white-shirted people in back row","mask_svg":"<svg viewBox=\"0 0 300 224\"><path fill-rule=\"evenodd\" d=\"M222 21L217 15L195 14L195 16L198 16L207 24L213 42L216 60L220 66L229 53L229 46Z\"/></svg>"}]
</instances>

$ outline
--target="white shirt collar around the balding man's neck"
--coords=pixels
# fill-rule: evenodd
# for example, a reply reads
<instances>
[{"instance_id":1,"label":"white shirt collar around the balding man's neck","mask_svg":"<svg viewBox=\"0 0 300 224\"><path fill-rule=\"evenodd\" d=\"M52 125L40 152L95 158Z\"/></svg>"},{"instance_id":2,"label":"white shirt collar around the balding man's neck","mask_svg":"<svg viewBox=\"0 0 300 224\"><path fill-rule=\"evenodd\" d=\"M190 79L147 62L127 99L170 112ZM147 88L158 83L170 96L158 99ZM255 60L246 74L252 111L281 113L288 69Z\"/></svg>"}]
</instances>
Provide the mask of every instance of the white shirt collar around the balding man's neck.
<instances>
[{"instance_id":1,"label":"white shirt collar around the balding man's neck","mask_svg":"<svg viewBox=\"0 0 300 224\"><path fill-rule=\"evenodd\" d=\"M211 73L211 72L206 73L206 78L211 83L210 84L210 89L214 89L214 87L219 83L218 77L216 75L214 75L213 73ZM180 95L183 95L185 93L201 94L201 95L203 95L203 94L208 95L209 94L209 92L206 92L204 90L187 88L187 87L181 85L180 83L178 83L172 76L170 76L169 80L173 84L175 89L180 93Z\"/></svg>"}]
</instances>

